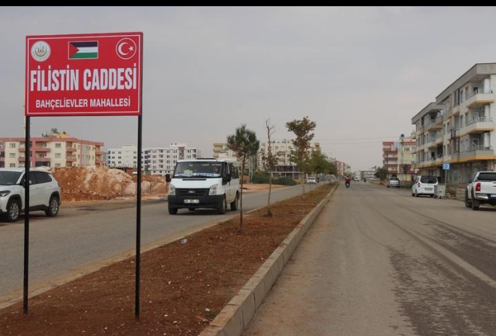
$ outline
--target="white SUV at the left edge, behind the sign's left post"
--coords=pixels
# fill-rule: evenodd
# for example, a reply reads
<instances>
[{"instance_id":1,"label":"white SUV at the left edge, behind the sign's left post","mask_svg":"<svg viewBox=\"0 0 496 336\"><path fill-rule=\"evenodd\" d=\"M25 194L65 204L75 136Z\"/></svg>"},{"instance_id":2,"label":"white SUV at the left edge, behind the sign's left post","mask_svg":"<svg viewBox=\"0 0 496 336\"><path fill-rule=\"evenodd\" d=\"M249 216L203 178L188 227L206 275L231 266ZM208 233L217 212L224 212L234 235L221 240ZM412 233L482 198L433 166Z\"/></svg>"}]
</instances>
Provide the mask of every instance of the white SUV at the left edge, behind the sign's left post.
<instances>
[{"instance_id":1,"label":"white SUV at the left edge, behind the sign's left post","mask_svg":"<svg viewBox=\"0 0 496 336\"><path fill-rule=\"evenodd\" d=\"M24 210L24 168L0 168L0 214L14 222ZM30 211L56 216L61 204L59 183L50 172L30 170Z\"/></svg>"}]
</instances>

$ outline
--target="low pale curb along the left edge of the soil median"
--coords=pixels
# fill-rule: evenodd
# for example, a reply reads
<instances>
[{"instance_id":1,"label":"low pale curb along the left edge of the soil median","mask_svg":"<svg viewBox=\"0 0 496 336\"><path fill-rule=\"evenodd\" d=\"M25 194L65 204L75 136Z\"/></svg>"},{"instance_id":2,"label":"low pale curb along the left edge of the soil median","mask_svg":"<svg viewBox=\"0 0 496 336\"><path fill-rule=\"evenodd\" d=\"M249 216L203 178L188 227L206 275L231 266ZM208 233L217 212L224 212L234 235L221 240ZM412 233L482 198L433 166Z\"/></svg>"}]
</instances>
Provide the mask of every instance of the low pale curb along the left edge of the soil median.
<instances>
[{"instance_id":1,"label":"low pale curb along the left edge of the soil median","mask_svg":"<svg viewBox=\"0 0 496 336\"><path fill-rule=\"evenodd\" d=\"M282 200L282 201L284 201L284 200ZM256 211L262 210L265 207L267 207L267 205L262 205L259 208L249 210L247 212L243 212L243 214L250 214L251 212L256 212ZM227 221L230 221L236 215L238 215L238 213L239 212L236 212L236 214L233 214L232 216L229 216L227 219L223 219L222 221L212 221L210 223L205 223L205 224L200 225L198 227L194 227L193 229L187 229L183 232L179 232L178 234L174 234L173 236L163 238L161 240L156 240L152 243L148 243L147 245L142 245L141 246L141 254L143 254L147 251L150 251L152 249L156 249L157 247L161 247L163 245L173 243L174 241L181 240L183 238L186 238L187 236L195 234L196 232L200 232L204 229L208 229L209 227L212 227L214 225L218 225L218 224L222 224L222 223L225 223ZM30 293L29 293L28 297L34 298L35 296L40 295L42 293L45 293L46 291L50 291L50 289L54 289L56 287L59 287L63 284L71 282L72 280L82 278L83 276L86 276L87 274L93 273L95 271L99 271L99 269L102 269L103 267L107 267L107 266L110 266L116 262L121 262L121 261L126 260L128 258L132 258L136 255L135 252L136 252L135 249L130 249L130 250L125 251L125 252L118 254L116 256L112 256L110 258L107 258L105 260L97 262L94 265L81 267L79 269L71 271L70 273L67 273L63 276L60 276L58 278L53 278L53 279L50 279L46 282L42 282L41 284L37 284L35 286L30 286ZM16 304L17 302L21 302L23 300L22 295L23 295L22 291L15 291L14 293L10 293L8 295L4 295L4 296L0 297L0 309L4 309L4 308L7 308L8 306L12 306L13 304Z\"/></svg>"}]
</instances>

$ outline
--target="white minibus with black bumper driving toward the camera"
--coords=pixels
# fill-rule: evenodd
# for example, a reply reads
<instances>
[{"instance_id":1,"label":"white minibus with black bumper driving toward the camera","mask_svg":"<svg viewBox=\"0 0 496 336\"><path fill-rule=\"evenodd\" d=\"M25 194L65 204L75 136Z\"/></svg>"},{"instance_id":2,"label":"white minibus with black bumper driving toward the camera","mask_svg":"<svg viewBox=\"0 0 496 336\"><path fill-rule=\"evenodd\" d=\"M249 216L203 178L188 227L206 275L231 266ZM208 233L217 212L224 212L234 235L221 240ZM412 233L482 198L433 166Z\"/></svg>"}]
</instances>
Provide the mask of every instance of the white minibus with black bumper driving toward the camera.
<instances>
[{"instance_id":1,"label":"white minibus with black bumper driving toward the camera","mask_svg":"<svg viewBox=\"0 0 496 336\"><path fill-rule=\"evenodd\" d=\"M169 214L178 209L217 209L225 214L227 204L238 209L239 172L236 161L227 159L178 160L172 179L168 178Z\"/></svg>"}]
</instances>

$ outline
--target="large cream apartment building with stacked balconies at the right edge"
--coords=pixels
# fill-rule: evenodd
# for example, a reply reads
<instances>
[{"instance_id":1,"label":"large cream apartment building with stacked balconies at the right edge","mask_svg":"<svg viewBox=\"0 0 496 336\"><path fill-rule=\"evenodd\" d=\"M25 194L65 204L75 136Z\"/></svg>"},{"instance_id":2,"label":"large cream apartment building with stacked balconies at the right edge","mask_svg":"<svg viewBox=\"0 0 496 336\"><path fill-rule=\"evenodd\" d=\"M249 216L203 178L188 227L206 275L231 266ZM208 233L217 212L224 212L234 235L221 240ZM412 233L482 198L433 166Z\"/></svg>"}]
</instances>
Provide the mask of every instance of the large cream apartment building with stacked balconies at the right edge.
<instances>
[{"instance_id":1,"label":"large cream apartment building with stacked balconies at the right edge","mask_svg":"<svg viewBox=\"0 0 496 336\"><path fill-rule=\"evenodd\" d=\"M411 120L417 138L415 168L448 183L466 183L479 170L495 170L496 63L478 63Z\"/></svg>"}]
</instances>

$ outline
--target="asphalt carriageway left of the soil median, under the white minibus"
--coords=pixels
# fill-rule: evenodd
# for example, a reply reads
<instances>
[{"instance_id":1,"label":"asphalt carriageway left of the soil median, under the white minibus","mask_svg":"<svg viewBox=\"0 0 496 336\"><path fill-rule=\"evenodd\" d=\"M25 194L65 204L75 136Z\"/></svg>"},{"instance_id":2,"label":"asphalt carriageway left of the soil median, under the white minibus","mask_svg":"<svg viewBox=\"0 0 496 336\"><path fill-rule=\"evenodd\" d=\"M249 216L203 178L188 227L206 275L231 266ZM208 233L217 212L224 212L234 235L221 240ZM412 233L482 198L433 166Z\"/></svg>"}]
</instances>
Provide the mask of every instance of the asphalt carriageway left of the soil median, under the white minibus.
<instances>
[{"instance_id":1,"label":"asphalt carriageway left of the soil median, under the white minibus","mask_svg":"<svg viewBox=\"0 0 496 336\"><path fill-rule=\"evenodd\" d=\"M276 188L271 201L301 192L301 186ZM243 210L265 205L267 193L264 190L244 194ZM177 215L171 216L165 202L144 203L141 212L142 245L239 214L179 210ZM59 216L54 218L46 217L43 212L32 212L30 218L30 286L135 248L135 203L62 207ZM23 223L23 216L16 223L0 221L0 298L22 290Z\"/></svg>"}]
</instances>

